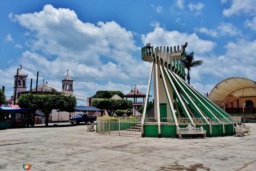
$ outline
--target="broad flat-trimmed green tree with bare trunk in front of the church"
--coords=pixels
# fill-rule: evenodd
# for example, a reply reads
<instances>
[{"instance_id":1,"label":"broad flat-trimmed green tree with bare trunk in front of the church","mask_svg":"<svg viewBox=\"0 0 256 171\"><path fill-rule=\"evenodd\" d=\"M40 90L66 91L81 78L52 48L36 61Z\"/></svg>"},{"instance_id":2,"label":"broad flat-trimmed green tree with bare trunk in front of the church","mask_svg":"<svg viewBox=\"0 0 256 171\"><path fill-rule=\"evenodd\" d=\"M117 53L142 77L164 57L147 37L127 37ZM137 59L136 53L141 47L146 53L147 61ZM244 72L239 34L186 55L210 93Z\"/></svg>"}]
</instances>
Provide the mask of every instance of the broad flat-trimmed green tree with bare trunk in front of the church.
<instances>
[{"instance_id":1,"label":"broad flat-trimmed green tree with bare trunk in front of the church","mask_svg":"<svg viewBox=\"0 0 256 171\"><path fill-rule=\"evenodd\" d=\"M66 95L33 95L24 94L19 97L18 105L21 108L41 110L45 114L45 126L48 126L48 117L53 109L72 110L76 107L76 97Z\"/></svg>"}]
</instances>

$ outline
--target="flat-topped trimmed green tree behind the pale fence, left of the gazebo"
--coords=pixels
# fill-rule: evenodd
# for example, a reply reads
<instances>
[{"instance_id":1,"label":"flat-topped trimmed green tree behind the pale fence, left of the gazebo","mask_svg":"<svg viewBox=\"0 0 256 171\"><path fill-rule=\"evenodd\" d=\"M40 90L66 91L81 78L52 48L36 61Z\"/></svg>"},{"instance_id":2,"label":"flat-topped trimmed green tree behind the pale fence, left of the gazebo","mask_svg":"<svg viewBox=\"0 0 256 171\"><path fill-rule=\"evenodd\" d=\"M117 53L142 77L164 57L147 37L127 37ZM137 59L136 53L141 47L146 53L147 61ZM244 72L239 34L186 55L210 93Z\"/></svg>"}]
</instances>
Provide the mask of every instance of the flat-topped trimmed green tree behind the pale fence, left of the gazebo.
<instances>
[{"instance_id":1,"label":"flat-topped trimmed green tree behind the pale fence, left of the gazebo","mask_svg":"<svg viewBox=\"0 0 256 171\"><path fill-rule=\"evenodd\" d=\"M108 116L113 116L116 110L132 108L132 105L132 100L125 99L97 99L92 101L92 106L107 110Z\"/></svg>"}]
</instances>

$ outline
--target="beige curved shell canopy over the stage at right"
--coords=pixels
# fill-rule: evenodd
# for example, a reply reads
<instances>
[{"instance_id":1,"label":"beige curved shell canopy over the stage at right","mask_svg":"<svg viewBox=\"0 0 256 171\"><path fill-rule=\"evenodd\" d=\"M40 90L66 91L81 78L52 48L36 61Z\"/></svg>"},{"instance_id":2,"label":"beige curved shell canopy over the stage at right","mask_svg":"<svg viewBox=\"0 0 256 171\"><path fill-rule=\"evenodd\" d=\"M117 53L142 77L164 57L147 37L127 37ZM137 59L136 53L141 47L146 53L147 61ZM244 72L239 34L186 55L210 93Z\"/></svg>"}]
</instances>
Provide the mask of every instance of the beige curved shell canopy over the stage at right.
<instances>
[{"instance_id":1,"label":"beige curved shell canopy over the stage at right","mask_svg":"<svg viewBox=\"0 0 256 171\"><path fill-rule=\"evenodd\" d=\"M256 96L256 82L243 77L231 77L222 80L211 90L208 98L213 103L223 106L230 96Z\"/></svg>"}]
</instances>

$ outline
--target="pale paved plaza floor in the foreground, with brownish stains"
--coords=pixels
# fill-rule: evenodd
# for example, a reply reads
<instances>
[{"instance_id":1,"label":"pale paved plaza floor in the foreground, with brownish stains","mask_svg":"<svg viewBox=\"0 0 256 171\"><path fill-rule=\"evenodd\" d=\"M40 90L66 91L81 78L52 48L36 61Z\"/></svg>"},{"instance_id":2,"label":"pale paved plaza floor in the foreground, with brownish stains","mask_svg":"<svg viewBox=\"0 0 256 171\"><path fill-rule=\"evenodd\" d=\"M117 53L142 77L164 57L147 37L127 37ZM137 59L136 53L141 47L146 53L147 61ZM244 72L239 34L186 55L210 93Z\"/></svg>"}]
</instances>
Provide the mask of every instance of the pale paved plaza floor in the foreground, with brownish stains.
<instances>
[{"instance_id":1,"label":"pale paved plaza floor in the foreground, with brownish stains","mask_svg":"<svg viewBox=\"0 0 256 171\"><path fill-rule=\"evenodd\" d=\"M256 124L246 125L249 136L182 140L103 135L85 125L0 130L0 170L256 170Z\"/></svg>"}]
</instances>

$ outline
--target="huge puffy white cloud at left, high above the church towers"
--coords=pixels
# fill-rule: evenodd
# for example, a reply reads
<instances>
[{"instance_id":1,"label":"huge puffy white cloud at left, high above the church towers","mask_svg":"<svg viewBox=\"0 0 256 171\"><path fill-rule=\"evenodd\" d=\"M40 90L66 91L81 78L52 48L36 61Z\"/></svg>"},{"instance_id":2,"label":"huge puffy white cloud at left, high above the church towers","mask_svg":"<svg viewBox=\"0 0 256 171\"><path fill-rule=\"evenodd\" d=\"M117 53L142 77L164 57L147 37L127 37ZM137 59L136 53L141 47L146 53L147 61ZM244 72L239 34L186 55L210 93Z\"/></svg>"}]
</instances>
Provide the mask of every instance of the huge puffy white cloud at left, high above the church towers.
<instances>
[{"instance_id":1,"label":"huge puffy white cloud at left, high above the church towers","mask_svg":"<svg viewBox=\"0 0 256 171\"><path fill-rule=\"evenodd\" d=\"M77 70L74 72L77 75L84 77L86 74L97 80L125 80L135 72L135 68L145 71L141 68L143 61L137 61L131 55L133 51L140 50L135 46L132 32L115 21L99 21L96 25L83 23L75 11L56 9L52 5L45 5L40 12L15 15L15 18L30 32L26 34L26 43L31 50L24 52L23 60L31 63L30 58L35 58L51 66L45 67L42 62L35 61L39 68L52 70L60 66L54 71L60 74L61 66L70 68L68 66L71 65ZM42 51L45 56L56 55L57 58L48 60L44 55L34 53L36 51Z\"/></svg>"}]
</instances>

